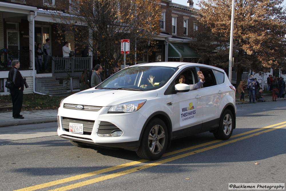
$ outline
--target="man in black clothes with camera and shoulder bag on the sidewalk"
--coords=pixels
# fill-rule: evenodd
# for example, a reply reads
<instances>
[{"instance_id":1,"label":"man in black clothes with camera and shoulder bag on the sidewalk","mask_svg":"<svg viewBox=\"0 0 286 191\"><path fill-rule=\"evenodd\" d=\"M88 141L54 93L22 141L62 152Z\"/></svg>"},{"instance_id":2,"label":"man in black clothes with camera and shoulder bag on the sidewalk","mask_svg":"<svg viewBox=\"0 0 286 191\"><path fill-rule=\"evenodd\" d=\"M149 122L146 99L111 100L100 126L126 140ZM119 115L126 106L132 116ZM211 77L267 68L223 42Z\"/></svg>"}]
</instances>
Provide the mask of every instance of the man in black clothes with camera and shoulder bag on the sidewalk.
<instances>
[{"instance_id":1,"label":"man in black clothes with camera and shoulder bag on the sidewalk","mask_svg":"<svg viewBox=\"0 0 286 191\"><path fill-rule=\"evenodd\" d=\"M12 68L8 74L8 80L13 81L13 87L10 88L13 103L13 118L24 119L24 117L20 115L23 104L24 80L18 68L20 68L19 60L13 60Z\"/></svg>"}]
</instances>

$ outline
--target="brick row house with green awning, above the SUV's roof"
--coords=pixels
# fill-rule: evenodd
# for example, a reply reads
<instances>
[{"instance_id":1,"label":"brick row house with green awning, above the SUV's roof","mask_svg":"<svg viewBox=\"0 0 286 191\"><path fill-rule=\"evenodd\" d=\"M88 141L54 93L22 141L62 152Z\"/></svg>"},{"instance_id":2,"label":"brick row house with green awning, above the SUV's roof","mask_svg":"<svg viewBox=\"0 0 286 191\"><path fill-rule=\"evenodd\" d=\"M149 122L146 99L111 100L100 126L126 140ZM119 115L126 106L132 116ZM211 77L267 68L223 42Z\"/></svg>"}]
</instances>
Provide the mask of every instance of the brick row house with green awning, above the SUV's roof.
<instances>
[{"instance_id":1,"label":"brick row house with green awning, above the SUV's roof","mask_svg":"<svg viewBox=\"0 0 286 191\"><path fill-rule=\"evenodd\" d=\"M192 0L186 5L162 0L162 15L160 18L160 35L154 37L158 41L158 50L152 55L143 53L138 63L145 62L199 62L200 57L189 47L194 39L190 35L198 30L196 25L196 10ZM147 51L146 51L147 52Z\"/></svg>"}]
</instances>

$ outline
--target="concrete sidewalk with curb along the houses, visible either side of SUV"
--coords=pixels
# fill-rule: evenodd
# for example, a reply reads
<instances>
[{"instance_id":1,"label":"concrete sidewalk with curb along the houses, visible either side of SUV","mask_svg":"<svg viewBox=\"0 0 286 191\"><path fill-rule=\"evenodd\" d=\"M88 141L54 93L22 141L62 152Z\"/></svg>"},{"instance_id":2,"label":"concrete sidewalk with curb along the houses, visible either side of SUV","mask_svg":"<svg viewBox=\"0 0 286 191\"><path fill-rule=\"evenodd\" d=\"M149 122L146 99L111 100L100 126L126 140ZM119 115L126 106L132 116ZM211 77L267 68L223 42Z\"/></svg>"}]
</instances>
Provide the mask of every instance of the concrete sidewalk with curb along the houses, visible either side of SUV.
<instances>
[{"instance_id":1,"label":"concrete sidewalk with curb along the houses, visible either side of SUV","mask_svg":"<svg viewBox=\"0 0 286 191\"><path fill-rule=\"evenodd\" d=\"M272 95L262 94L265 101L272 101ZM284 100L283 98L277 98L277 100ZM286 100L286 98L285 98ZM236 104L248 104L249 97L245 97L245 102L240 102L239 99L236 100ZM263 104L263 102L257 102L257 104ZM44 123L57 121L57 109L50 110L34 110L34 111L21 111L21 115L25 119L14 119L12 117L12 111L1 112L0 113L0 127L11 126L11 125L23 125L32 123Z\"/></svg>"}]
</instances>

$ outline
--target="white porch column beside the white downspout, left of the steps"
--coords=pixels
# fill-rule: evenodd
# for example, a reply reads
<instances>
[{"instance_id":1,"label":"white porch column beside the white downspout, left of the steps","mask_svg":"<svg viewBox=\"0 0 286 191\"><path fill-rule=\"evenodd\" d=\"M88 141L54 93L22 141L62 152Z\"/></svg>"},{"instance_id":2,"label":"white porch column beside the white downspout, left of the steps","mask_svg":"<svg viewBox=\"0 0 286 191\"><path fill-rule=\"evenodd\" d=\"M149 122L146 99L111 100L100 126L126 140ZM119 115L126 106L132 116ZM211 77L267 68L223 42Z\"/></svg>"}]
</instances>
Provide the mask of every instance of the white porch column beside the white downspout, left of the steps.
<instances>
[{"instance_id":1,"label":"white porch column beside the white downspout, left of the steps","mask_svg":"<svg viewBox=\"0 0 286 191\"><path fill-rule=\"evenodd\" d=\"M35 28L34 28L34 19L33 17L35 16L35 12L30 12L30 14L28 15L28 21L29 21L29 50L30 50L30 69L33 69L35 67L35 64L33 64L33 62L35 62L34 58L35 58L35 42L33 42L34 40L34 36L35 36Z\"/></svg>"}]
</instances>

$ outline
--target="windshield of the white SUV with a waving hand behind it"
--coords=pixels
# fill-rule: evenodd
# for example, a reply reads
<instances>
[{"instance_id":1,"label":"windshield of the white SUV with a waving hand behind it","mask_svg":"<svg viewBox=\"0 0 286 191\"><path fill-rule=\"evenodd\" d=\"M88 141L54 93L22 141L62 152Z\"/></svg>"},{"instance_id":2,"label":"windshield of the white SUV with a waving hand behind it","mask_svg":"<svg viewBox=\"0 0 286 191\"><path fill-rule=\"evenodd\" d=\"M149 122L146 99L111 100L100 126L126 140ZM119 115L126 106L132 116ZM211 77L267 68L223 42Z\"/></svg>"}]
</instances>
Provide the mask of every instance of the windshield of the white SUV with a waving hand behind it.
<instances>
[{"instance_id":1,"label":"windshield of the white SUV with a waving hand behind it","mask_svg":"<svg viewBox=\"0 0 286 191\"><path fill-rule=\"evenodd\" d=\"M115 73L96 89L154 90L164 86L177 69L165 66L130 67Z\"/></svg>"}]
</instances>

